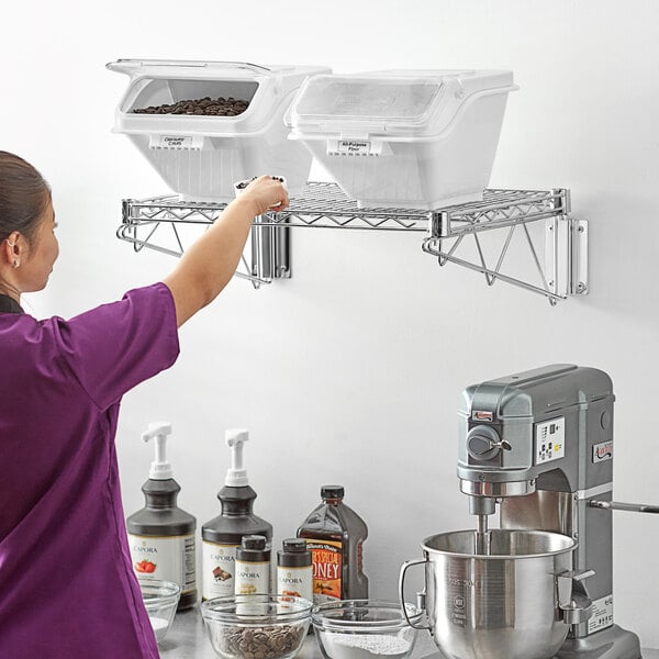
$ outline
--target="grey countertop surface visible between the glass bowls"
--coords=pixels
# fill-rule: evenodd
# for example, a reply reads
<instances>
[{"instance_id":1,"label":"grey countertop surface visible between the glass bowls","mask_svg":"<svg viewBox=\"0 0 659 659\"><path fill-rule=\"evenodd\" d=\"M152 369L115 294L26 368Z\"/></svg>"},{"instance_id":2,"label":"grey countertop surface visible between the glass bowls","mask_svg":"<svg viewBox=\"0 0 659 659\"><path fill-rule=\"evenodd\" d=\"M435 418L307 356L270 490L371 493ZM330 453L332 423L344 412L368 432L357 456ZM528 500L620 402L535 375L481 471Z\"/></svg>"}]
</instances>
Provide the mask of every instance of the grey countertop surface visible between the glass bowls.
<instances>
[{"instance_id":1,"label":"grey countertop surface visible between the glass bowls","mask_svg":"<svg viewBox=\"0 0 659 659\"><path fill-rule=\"evenodd\" d=\"M198 607L177 613L169 634L160 643L160 657L163 659L216 659L211 641L203 628L203 619ZM429 656L432 659L442 659L431 635L418 633L416 647L412 659L422 659ZM304 641L298 659L322 659L321 650L313 635ZM659 659L659 650L644 649L643 659Z\"/></svg>"}]
</instances>

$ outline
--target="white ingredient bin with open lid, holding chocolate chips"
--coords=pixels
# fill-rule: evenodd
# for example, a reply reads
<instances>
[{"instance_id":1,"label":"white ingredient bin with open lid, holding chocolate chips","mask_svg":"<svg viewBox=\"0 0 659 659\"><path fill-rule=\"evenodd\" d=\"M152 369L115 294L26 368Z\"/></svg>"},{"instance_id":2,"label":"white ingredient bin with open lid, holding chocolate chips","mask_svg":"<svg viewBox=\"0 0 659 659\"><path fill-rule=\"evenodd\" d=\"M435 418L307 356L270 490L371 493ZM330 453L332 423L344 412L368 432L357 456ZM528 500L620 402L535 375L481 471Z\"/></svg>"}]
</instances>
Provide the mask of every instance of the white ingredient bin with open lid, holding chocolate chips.
<instances>
[{"instance_id":1,"label":"white ingredient bin with open lid, holding chocolate chips","mask_svg":"<svg viewBox=\"0 0 659 659\"><path fill-rule=\"evenodd\" d=\"M130 76L114 132L126 134L181 199L231 201L236 181L264 174L286 177L293 194L306 182L312 156L287 138L283 116L308 76L330 68L156 59L119 59L107 66ZM248 107L234 116L135 112L221 97Z\"/></svg>"}]
</instances>

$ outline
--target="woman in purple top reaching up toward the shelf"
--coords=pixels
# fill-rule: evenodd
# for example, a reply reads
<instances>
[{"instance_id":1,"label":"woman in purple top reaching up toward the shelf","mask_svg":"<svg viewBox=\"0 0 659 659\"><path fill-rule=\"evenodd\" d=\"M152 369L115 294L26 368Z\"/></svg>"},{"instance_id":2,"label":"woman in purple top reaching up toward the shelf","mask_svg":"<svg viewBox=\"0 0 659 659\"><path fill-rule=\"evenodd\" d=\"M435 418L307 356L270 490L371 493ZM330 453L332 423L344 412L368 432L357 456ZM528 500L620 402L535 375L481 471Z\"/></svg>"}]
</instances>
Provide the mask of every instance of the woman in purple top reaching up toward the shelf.
<instances>
[{"instance_id":1,"label":"woman in purple top reaching up toward the shelf","mask_svg":"<svg viewBox=\"0 0 659 659\"><path fill-rule=\"evenodd\" d=\"M161 282L70 320L38 321L58 255L51 191L0 152L0 659L155 659L121 504L122 395L170 367L178 327L238 264L255 215L288 204L254 181Z\"/></svg>"}]
</instances>

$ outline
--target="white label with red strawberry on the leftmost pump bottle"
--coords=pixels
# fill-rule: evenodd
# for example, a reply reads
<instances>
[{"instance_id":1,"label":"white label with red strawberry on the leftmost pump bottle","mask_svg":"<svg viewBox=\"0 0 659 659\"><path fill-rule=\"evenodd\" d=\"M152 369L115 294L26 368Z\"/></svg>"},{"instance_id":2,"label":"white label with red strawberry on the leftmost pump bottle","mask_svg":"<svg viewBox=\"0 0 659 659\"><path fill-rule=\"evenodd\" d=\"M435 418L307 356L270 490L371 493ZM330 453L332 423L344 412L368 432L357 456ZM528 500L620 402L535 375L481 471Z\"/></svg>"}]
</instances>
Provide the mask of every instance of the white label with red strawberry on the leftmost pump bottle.
<instances>
[{"instance_id":1,"label":"white label with red strawberry on the leftmost pump bottle","mask_svg":"<svg viewBox=\"0 0 659 659\"><path fill-rule=\"evenodd\" d=\"M197 587L194 536L138 536L129 534L133 570L139 579L174 581L181 595Z\"/></svg>"}]
</instances>

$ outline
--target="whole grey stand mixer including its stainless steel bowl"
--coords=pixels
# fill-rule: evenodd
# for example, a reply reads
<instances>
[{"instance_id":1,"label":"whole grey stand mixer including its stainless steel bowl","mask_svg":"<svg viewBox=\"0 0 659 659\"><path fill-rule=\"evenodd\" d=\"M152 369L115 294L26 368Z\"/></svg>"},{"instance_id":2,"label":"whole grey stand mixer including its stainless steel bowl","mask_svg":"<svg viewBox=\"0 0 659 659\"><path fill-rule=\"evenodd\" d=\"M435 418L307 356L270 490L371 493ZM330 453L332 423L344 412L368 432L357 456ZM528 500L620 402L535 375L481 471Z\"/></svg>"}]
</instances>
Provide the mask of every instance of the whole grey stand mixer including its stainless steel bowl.
<instances>
[{"instance_id":1,"label":"whole grey stand mixer including its stainless steel bowl","mask_svg":"<svg viewBox=\"0 0 659 659\"><path fill-rule=\"evenodd\" d=\"M467 388L460 491L477 529L423 540L418 593L447 659L641 659L614 624L613 387L593 368L554 365ZM500 507L500 525L489 517Z\"/></svg>"}]
</instances>

